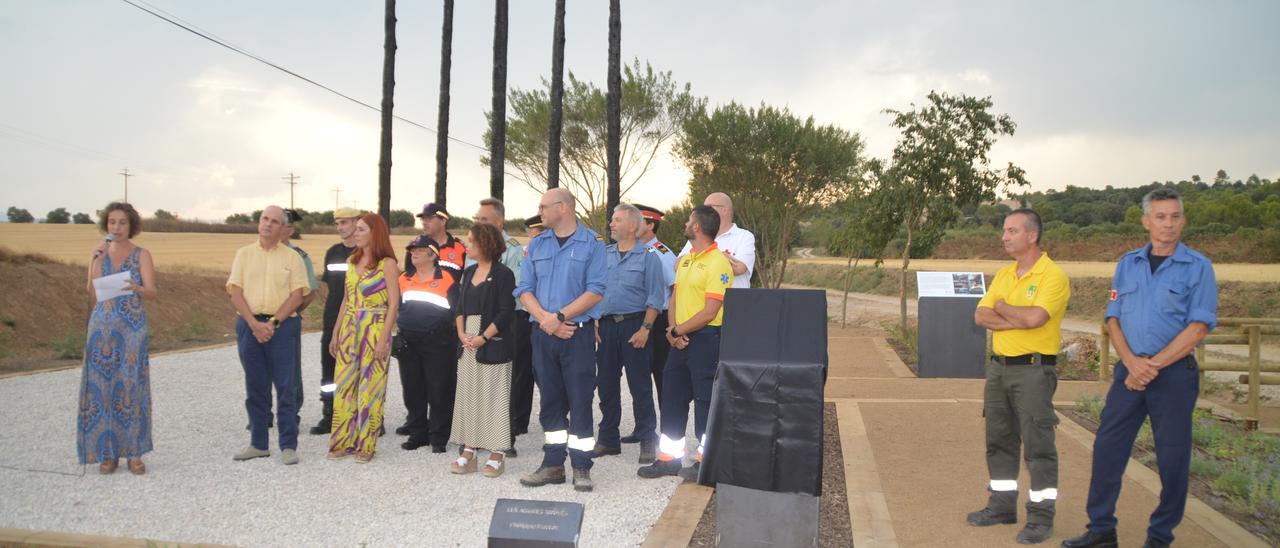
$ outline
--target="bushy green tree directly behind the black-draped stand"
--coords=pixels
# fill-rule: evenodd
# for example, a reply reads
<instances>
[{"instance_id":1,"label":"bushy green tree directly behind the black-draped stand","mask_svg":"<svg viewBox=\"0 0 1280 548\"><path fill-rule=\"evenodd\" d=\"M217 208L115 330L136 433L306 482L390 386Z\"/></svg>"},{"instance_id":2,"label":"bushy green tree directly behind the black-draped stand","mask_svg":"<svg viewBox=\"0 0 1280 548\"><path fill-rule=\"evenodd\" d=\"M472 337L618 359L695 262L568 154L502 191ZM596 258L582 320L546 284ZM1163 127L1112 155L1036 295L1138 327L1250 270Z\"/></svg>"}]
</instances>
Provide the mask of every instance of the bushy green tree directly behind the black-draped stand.
<instances>
[{"instance_id":1,"label":"bushy green tree directly behind the black-draped stand","mask_svg":"<svg viewBox=\"0 0 1280 548\"><path fill-rule=\"evenodd\" d=\"M861 181L856 133L768 105L730 102L694 115L675 150L692 174L691 201L717 191L733 198L735 220L755 233L755 271L765 287L782 283L799 222Z\"/></svg>"}]
</instances>

